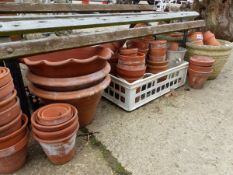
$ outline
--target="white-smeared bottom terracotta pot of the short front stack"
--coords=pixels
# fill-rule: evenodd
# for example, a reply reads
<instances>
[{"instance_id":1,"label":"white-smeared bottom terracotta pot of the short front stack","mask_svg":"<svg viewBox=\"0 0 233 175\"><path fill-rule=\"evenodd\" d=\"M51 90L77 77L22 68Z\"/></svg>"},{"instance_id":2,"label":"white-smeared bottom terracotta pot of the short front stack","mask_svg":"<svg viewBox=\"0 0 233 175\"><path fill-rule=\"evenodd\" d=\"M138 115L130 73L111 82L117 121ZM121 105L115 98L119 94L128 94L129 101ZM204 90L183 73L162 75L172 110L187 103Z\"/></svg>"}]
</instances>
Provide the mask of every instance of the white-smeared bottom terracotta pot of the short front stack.
<instances>
[{"instance_id":1,"label":"white-smeared bottom terracotta pot of the short front stack","mask_svg":"<svg viewBox=\"0 0 233 175\"><path fill-rule=\"evenodd\" d=\"M61 165L70 161L75 155L77 130L69 136L57 140L43 140L35 133L33 133L33 138L40 143L52 163Z\"/></svg>"}]
</instances>

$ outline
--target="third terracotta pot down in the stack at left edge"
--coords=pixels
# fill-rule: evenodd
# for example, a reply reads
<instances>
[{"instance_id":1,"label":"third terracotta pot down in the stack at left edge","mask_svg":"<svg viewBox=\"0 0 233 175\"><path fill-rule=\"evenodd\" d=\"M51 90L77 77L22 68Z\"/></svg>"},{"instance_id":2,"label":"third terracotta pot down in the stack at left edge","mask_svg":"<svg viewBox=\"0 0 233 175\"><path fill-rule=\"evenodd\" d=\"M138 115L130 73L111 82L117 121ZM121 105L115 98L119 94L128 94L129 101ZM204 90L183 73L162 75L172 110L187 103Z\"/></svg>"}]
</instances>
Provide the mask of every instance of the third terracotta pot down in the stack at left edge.
<instances>
[{"instance_id":1,"label":"third terracotta pot down in the stack at left edge","mask_svg":"<svg viewBox=\"0 0 233 175\"><path fill-rule=\"evenodd\" d=\"M16 92L16 90L14 90L12 94L5 97L4 99L1 99L1 101L0 101L0 113L5 111L6 109L9 109L11 106L13 106L16 103L16 101L17 101L16 95L17 95L17 92Z\"/></svg>"}]
</instances>

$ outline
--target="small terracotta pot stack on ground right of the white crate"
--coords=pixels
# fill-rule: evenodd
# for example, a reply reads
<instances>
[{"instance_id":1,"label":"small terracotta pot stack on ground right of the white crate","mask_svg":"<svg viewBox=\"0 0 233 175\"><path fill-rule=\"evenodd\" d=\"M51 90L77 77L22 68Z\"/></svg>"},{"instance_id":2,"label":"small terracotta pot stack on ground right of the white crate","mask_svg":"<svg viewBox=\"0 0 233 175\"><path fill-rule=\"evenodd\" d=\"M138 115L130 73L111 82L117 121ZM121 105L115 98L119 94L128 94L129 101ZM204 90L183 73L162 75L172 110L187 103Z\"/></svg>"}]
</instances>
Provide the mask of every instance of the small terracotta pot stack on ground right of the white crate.
<instances>
[{"instance_id":1,"label":"small terracotta pot stack on ground right of the white crate","mask_svg":"<svg viewBox=\"0 0 233 175\"><path fill-rule=\"evenodd\" d=\"M189 85L194 89L203 88L213 72L214 59L207 56L193 56L189 62Z\"/></svg>"}]
</instances>

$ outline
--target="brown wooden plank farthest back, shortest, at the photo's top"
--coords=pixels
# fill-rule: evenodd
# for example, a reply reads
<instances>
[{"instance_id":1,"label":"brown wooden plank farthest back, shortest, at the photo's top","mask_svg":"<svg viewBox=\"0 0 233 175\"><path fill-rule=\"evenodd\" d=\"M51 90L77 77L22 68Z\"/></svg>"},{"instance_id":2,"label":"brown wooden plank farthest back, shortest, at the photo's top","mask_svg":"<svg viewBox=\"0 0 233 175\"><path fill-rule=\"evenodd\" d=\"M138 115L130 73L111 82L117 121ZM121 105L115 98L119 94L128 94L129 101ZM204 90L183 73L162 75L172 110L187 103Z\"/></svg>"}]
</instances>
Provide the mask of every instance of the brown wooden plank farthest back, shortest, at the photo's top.
<instances>
[{"instance_id":1,"label":"brown wooden plank farthest back, shortest, at the photo's top","mask_svg":"<svg viewBox=\"0 0 233 175\"><path fill-rule=\"evenodd\" d=\"M0 13L64 13L64 12L130 12L154 11L152 5L132 4L31 4L31 3L0 3Z\"/></svg>"}]
</instances>

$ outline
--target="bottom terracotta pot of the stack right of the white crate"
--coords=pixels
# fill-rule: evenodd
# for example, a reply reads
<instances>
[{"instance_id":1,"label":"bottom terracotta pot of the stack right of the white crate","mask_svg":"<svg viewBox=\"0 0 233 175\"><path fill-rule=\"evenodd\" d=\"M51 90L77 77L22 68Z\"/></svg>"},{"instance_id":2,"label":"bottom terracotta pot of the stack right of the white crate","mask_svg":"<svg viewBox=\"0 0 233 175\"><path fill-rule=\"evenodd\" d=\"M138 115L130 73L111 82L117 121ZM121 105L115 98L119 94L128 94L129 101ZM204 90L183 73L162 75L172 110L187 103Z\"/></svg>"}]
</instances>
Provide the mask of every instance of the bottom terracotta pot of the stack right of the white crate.
<instances>
[{"instance_id":1,"label":"bottom terracotta pot of the stack right of the white crate","mask_svg":"<svg viewBox=\"0 0 233 175\"><path fill-rule=\"evenodd\" d=\"M189 86L194 89L203 88L206 80L209 78L212 72L199 72L192 69L188 70L189 72Z\"/></svg>"}]
</instances>

